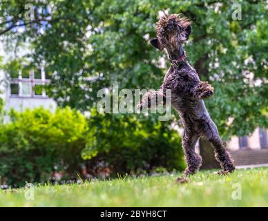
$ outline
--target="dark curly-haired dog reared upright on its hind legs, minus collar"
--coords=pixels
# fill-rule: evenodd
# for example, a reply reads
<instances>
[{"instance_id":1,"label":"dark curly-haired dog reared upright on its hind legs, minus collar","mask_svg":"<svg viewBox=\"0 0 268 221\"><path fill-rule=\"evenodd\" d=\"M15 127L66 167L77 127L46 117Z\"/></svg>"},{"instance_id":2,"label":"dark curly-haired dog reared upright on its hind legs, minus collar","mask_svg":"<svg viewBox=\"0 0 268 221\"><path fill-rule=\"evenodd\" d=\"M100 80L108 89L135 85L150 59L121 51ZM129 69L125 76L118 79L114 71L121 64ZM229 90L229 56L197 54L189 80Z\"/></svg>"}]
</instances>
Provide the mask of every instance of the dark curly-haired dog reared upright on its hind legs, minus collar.
<instances>
[{"instance_id":1,"label":"dark curly-haired dog reared upright on its hind legs, minus collar","mask_svg":"<svg viewBox=\"0 0 268 221\"><path fill-rule=\"evenodd\" d=\"M183 42L191 34L191 21L177 14L167 15L157 22L156 31L157 38L151 41L151 44L160 50L166 48L169 59L176 60L183 52ZM222 172L233 172L233 161L203 101L213 95L213 87L207 81L200 81L195 69L184 61L179 66L171 64L161 89L162 93L159 96L165 96L166 89L171 89L171 104L178 111L184 125L182 147L188 164L184 174L195 173L202 164L202 158L195 153L195 144L200 137L206 137L213 144L216 160L220 162ZM140 108L151 107L150 97L157 97L157 94L147 93L139 104ZM144 102L144 99L149 101Z\"/></svg>"}]
</instances>

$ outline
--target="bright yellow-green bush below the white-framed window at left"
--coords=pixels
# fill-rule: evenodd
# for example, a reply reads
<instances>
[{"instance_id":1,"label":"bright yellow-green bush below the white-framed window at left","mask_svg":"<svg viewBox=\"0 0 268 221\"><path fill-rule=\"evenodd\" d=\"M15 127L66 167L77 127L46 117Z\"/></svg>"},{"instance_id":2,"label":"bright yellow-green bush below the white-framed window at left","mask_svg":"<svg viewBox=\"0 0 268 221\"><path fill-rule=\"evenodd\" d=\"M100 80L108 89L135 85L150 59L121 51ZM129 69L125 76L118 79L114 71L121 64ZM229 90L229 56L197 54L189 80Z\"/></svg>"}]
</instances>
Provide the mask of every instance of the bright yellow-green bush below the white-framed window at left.
<instances>
[{"instance_id":1,"label":"bright yellow-green bush below the white-framed window at left","mask_svg":"<svg viewBox=\"0 0 268 221\"><path fill-rule=\"evenodd\" d=\"M75 173L88 131L85 117L70 108L11 111L0 129L0 175L12 186L46 182L54 166Z\"/></svg>"}]
</instances>

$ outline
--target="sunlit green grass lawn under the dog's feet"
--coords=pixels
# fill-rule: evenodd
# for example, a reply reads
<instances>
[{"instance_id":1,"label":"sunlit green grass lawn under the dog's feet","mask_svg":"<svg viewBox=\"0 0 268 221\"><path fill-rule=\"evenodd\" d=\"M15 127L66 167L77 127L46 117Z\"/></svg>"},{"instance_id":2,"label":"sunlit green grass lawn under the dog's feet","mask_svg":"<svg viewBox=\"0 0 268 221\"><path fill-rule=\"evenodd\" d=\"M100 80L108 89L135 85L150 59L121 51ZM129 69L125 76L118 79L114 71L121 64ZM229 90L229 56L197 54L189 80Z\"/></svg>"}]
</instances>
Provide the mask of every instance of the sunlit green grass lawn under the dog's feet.
<instances>
[{"instance_id":1,"label":"sunlit green grass lawn under the dog's feet","mask_svg":"<svg viewBox=\"0 0 268 221\"><path fill-rule=\"evenodd\" d=\"M267 168L227 176L200 171L185 184L175 182L180 175L37 185L34 200L26 200L28 189L1 190L0 206L268 206ZM236 184L241 200L232 198Z\"/></svg>"}]
</instances>

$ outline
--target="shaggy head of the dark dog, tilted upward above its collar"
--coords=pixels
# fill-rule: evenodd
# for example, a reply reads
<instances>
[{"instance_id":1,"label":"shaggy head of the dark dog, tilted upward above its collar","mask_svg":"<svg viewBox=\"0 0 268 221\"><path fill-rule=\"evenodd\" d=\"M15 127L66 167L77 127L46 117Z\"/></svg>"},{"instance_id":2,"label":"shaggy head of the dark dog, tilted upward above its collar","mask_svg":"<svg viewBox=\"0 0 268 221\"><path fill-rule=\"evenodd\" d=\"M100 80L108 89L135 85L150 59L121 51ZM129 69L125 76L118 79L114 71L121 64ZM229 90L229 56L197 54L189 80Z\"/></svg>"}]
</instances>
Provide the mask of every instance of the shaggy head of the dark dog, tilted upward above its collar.
<instances>
[{"instance_id":1,"label":"shaggy head of the dark dog, tilted upward above its collar","mask_svg":"<svg viewBox=\"0 0 268 221\"><path fill-rule=\"evenodd\" d=\"M150 43L155 48L163 50L175 50L191 34L191 21L178 14L161 17L156 23L157 38L151 39Z\"/></svg>"}]
</instances>

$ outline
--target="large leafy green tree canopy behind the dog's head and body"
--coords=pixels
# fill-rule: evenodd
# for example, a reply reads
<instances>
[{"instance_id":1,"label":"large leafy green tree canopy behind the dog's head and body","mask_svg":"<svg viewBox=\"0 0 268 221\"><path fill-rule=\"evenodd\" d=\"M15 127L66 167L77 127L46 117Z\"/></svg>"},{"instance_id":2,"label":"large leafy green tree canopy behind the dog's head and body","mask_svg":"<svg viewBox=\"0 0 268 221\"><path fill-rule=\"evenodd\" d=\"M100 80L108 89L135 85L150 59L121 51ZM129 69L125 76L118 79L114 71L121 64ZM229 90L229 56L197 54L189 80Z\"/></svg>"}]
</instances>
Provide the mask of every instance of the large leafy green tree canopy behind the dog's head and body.
<instances>
[{"instance_id":1,"label":"large leafy green tree canopy behind the dog's head and body","mask_svg":"<svg viewBox=\"0 0 268 221\"><path fill-rule=\"evenodd\" d=\"M232 19L230 1L32 2L32 21L20 16L26 1L1 2L0 35L30 43L28 56L45 62L50 94L60 106L88 111L97 90L115 81L120 88L159 88L166 69L160 58L166 56L147 40L165 11L193 21L185 48L201 79L215 88L206 104L224 140L268 126L265 1L237 1L242 20Z\"/></svg>"}]
</instances>

